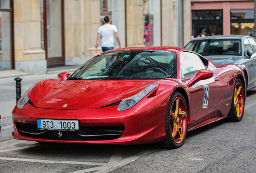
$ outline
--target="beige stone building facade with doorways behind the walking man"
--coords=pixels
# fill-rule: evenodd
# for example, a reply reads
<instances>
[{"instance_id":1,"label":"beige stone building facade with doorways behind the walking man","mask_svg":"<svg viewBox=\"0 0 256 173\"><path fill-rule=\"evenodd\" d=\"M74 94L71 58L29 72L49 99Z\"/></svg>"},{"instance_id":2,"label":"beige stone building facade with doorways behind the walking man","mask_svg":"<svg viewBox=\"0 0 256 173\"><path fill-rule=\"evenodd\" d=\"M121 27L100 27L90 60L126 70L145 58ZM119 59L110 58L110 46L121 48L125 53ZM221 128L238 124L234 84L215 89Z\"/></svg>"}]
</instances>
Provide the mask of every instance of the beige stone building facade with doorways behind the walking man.
<instances>
[{"instance_id":1,"label":"beige stone building facade with doorways behind the walking man","mask_svg":"<svg viewBox=\"0 0 256 173\"><path fill-rule=\"evenodd\" d=\"M100 53L94 51L97 30L106 15L116 25L122 47L183 47L190 41L190 0L0 2L9 4L0 3L0 70L44 74L52 66L85 63ZM9 17L4 18L5 12Z\"/></svg>"}]
</instances>

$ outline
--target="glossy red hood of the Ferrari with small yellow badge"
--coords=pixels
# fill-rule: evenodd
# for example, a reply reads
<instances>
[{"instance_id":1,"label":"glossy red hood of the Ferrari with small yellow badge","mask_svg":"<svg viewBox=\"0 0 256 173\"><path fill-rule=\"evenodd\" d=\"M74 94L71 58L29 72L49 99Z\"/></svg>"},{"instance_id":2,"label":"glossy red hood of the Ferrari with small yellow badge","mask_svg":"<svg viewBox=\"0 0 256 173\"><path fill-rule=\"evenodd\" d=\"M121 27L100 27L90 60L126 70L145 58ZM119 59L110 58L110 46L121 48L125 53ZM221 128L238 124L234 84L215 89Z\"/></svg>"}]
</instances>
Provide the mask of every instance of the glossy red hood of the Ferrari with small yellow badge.
<instances>
[{"instance_id":1,"label":"glossy red hood of the Ferrari with small yellow badge","mask_svg":"<svg viewBox=\"0 0 256 173\"><path fill-rule=\"evenodd\" d=\"M155 81L50 79L37 83L28 96L37 108L97 109L135 95Z\"/></svg>"}]
</instances>

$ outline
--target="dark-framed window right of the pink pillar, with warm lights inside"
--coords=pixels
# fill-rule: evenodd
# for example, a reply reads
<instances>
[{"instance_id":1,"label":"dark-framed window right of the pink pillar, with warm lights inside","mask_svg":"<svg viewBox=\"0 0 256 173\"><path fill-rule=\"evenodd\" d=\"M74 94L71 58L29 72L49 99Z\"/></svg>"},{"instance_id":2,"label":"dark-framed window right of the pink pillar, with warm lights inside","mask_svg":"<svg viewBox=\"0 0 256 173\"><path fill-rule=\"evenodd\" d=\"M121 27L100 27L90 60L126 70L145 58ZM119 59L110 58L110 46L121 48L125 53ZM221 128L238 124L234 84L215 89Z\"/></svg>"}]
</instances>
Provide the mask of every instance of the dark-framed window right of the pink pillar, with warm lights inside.
<instances>
[{"instance_id":1,"label":"dark-framed window right of the pink pillar, with warm lights inside","mask_svg":"<svg viewBox=\"0 0 256 173\"><path fill-rule=\"evenodd\" d=\"M254 9L230 10L231 34L253 35Z\"/></svg>"}]
</instances>

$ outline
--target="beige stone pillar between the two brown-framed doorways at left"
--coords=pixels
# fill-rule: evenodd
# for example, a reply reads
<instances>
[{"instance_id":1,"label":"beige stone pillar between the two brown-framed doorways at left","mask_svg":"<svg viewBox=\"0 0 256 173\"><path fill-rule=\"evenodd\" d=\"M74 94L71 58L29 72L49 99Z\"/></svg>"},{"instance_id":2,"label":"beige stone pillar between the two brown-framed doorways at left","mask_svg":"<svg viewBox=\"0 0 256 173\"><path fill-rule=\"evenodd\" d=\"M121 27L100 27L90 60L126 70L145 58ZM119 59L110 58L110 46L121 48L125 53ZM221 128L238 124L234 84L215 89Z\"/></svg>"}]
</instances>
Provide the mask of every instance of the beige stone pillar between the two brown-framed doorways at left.
<instances>
[{"instance_id":1,"label":"beige stone pillar between the two brown-framed doorways at left","mask_svg":"<svg viewBox=\"0 0 256 173\"><path fill-rule=\"evenodd\" d=\"M40 1L14 0L15 61L45 60L41 49Z\"/></svg>"}]
</instances>

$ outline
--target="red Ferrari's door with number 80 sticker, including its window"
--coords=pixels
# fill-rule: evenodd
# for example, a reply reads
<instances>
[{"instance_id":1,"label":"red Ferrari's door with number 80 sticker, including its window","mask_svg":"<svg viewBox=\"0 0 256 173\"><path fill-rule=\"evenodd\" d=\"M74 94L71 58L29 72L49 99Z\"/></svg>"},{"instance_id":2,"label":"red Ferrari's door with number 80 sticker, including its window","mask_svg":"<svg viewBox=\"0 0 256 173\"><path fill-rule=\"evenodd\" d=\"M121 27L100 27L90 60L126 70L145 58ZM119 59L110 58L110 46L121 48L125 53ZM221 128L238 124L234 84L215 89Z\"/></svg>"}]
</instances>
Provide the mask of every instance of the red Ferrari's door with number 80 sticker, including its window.
<instances>
[{"instance_id":1,"label":"red Ferrari's door with number 80 sticker, including its window","mask_svg":"<svg viewBox=\"0 0 256 173\"><path fill-rule=\"evenodd\" d=\"M181 75L183 79L193 78L199 70L205 70L206 66L197 54L181 52ZM217 80L217 79L216 79ZM196 126L206 119L210 119L218 109L221 95L221 84L214 77L200 80L190 87L191 108L190 119Z\"/></svg>"}]
</instances>

